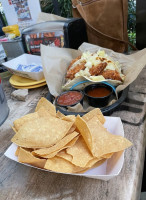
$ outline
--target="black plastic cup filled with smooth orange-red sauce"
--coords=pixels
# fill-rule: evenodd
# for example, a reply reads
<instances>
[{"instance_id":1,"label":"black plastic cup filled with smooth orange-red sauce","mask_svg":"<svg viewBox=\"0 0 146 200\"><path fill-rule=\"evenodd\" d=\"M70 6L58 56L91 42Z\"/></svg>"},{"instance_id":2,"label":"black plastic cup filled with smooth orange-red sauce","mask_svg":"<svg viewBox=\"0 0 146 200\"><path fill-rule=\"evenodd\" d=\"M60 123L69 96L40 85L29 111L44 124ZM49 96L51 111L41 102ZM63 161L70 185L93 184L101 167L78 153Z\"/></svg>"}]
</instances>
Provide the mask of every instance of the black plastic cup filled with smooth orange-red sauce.
<instances>
[{"instance_id":1,"label":"black plastic cup filled with smooth orange-red sauce","mask_svg":"<svg viewBox=\"0 0 146 200\"><path fill-rule=\"evenodd\" d=\"M104 83L91 84L85 87L84 94L90 106L105 107L111 99L113 89Z\"/></svg>"}]
</instances>

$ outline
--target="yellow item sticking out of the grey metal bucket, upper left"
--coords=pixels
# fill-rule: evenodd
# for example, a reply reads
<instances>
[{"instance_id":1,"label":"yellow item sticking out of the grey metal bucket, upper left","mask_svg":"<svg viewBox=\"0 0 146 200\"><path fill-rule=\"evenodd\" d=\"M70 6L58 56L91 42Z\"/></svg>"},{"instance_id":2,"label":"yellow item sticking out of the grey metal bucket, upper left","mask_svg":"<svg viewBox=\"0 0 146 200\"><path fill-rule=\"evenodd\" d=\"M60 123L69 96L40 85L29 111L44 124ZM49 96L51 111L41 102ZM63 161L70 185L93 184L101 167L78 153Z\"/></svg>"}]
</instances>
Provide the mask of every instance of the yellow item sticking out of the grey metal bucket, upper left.
<instances>
[{"instance_id":1,"label":"yellow item sticking out of the grey metal bucket, upper left","mask_svg":"<svg viewBox=\"0 0 146 200\"><path fill-rule=\"evenodd\" d=\"M19 26L17 24L12 26L5 26L2 28L5 34L15 34L15 36L20 36Z\"/></svg>"}]
</instances>

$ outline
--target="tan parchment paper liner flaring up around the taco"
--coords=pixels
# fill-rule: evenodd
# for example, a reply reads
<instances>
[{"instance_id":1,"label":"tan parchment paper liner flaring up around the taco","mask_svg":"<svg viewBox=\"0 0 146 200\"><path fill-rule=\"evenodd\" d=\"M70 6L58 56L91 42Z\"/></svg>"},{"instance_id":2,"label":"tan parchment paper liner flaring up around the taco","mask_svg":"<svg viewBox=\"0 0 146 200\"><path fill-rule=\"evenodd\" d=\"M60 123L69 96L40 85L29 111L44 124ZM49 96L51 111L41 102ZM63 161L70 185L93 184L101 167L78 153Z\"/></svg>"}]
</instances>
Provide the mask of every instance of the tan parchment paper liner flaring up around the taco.
<instances>
[{"instance_id":1,"label":"tan parchment paper liner flaring up around the taco","mask_svg":"<svg viewBox=\"0 0 146 200\"><path fill-rule=\"evenodd\" d=\"M88 43L83 43L79 47L79 50L41 45L43 71L50 93L53 96L58 96L62 92L62 85L65 83L64 77L72 59L75 59L84 51L96 52L99 49L103 49L109 56L115 61L119 61L122 65L122 71L126 77L123 84L117 86L117 92L124 90L130 85L146 65L146 49L131 55L124 55Z\"/></svg>"}]
</instances>

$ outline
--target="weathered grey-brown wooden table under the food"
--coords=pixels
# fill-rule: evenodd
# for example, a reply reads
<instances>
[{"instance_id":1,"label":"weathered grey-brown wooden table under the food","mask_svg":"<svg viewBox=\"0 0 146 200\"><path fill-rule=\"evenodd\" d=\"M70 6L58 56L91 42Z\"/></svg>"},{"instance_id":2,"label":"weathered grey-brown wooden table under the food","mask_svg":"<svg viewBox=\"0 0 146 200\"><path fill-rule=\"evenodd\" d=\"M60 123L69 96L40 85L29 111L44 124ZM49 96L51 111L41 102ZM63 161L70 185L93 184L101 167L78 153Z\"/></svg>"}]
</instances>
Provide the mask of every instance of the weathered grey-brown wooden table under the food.
<instances>
[{"instance_id":1,"label":"weathered grey-brown wooden table under the food","mask_svg":"<svg viewBox=\"0 0 146 200\"><path fill-rule=\"evenodd\" d=\"M138 200L140 197L145 155L146 124L146 68L129 89L125 102L112 116L123 121L125 137L133 147L125 152L121 173L104 182L85 177L62 175L41 171L16 163L4 156L14 134L12 122L33 111L41 96L46 96L47 87L29 91L26 102L10 99L13 91L8 81L4 89L10 113L0 127L0 200Z\"/></svg>"}]
</instances>

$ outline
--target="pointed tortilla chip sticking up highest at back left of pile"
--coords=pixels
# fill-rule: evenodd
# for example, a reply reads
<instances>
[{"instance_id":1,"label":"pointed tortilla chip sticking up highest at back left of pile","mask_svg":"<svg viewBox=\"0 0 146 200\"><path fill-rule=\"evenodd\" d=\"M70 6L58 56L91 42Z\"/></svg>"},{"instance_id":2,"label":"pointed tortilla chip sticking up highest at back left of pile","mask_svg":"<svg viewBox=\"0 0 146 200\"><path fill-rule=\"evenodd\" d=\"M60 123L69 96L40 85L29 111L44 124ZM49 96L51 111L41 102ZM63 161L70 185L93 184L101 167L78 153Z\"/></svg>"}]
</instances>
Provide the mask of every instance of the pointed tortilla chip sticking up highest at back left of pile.
<instances>
[{"instance_id":1,"label":"pointed tortilla chip sticking up highest at back left of pile","mask_svg":"<svg viewBox=\"0 0 146 200\"><path fill-rule=\"evenodd\" d=\"M35 111L38 111L41 107L44 107L52 116L56 116L55 106L44 97L39 100Z\"/></svg>"}]
</instances>

